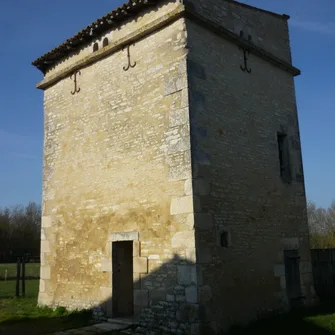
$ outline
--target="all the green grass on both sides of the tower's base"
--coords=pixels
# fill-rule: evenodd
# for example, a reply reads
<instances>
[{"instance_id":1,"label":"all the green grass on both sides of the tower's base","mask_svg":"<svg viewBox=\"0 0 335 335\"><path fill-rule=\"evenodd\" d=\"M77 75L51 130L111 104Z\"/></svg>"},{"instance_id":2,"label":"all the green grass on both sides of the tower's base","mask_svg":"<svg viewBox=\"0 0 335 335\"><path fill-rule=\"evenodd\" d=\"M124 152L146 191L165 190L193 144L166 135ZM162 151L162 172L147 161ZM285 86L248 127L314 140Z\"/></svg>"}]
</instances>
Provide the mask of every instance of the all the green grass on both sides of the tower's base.
<instances>
[{"instance_id":1,"label":"all the green grass on both sides of the tower's base","mask_svg":"<svg viewBox=\"0 0 335 335\"><path fill-rule=\"evenodd\" d=\"M91 325L90 312L37 307L39 281L26 282L26 298L14 298L15 281L0 281L0 334L50 334ZM105 335L117 335L109 332ZM229 335L335 335L335 303L235 327Z\"/></svg>"}]
</instances>

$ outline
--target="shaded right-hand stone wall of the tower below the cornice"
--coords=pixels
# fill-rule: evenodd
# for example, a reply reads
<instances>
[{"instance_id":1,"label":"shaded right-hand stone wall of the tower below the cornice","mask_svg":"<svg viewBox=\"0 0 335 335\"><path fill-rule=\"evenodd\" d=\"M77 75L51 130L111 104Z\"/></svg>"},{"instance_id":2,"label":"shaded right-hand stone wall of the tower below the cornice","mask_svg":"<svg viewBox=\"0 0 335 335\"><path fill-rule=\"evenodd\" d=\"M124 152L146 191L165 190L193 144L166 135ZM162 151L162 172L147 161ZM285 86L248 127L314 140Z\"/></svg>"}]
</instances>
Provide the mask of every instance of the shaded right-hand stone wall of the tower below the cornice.
<instances>
[{"instance_id":1,"label":"shaded right-hand stone wall of the tower below the cornice","mask_svg":"<svg viewBox=\"0 0 335 335\"><path fill-rule=\"evenodd\" d=\"M291 74L187 20L199 299L213 328L288 306L284 249L298 249L313 296L300 137ZM293 180L280 177L277 132ZM226 234L228 247L220 238Z\"/></svg>"}]
</instances>

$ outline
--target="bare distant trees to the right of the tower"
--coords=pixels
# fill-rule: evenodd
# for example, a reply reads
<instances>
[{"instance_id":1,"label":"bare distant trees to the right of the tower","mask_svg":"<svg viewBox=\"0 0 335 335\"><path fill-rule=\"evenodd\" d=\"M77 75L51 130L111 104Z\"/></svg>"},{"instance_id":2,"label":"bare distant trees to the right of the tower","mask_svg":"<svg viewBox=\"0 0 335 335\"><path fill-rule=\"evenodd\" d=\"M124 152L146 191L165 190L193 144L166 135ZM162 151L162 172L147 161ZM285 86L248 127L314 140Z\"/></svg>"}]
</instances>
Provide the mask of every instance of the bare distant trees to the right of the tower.
<instances>
[{"instance_id":1,"label":"bare distant trees to the right of the tower","mask_svg":"<svg viewBox=\"0 0 335 335\"><path fill-rule=\"evenodd\" d=\"M328 208L307 204L310 244L313 249L335 248L335 201Z\"/></svg>"}]
</instances>

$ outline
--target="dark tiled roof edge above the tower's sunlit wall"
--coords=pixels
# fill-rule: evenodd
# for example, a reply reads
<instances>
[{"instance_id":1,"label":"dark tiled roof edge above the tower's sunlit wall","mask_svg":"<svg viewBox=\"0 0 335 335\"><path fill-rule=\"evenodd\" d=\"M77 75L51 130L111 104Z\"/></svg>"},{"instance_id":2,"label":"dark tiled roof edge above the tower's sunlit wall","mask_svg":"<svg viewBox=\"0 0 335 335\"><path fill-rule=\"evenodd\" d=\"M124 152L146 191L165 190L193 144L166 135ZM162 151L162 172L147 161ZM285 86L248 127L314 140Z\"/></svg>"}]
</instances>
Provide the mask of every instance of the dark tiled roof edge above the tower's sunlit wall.
<instances>
[{"instance_id":1,"label":"dark tiled roof edge above the tower's sunlit wall","mask_svg":"<svg viewBox=\"0 0 335 335\"><path fill-rule=\"evenodd\" d=\"M48 68L53 66L60 58L66 57L72 51L91 42L96 36L120 25L132 15L139 13L148 6L156 5L160 1L161 0L130 0L96 20L57 48L36 59L32 64L45 73Z\"/></svg>"}]
</instances>

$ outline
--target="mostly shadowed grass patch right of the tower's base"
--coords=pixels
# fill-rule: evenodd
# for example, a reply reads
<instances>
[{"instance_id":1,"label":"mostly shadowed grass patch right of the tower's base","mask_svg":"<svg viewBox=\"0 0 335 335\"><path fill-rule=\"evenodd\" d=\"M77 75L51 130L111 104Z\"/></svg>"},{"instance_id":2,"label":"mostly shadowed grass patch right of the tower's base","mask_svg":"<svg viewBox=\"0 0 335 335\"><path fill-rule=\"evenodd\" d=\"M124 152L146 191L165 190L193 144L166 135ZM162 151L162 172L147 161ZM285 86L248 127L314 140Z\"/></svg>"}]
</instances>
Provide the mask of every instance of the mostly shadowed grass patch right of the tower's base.
<instances>
[{"instance_id":1,"label":"mostly shadowed grass patch right of the tower's base","mask_svg":"<svg viewBox=\"0 0 335 335\"><path fill-rule=\"evenodd\" d=\"M335 334L335 304L322 304L267 317L245 327L234 326L229 335L334 335Z\"/></svg>"}]
</instances>

